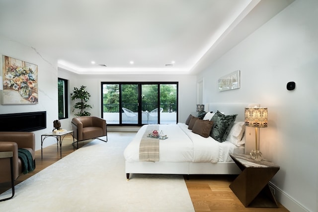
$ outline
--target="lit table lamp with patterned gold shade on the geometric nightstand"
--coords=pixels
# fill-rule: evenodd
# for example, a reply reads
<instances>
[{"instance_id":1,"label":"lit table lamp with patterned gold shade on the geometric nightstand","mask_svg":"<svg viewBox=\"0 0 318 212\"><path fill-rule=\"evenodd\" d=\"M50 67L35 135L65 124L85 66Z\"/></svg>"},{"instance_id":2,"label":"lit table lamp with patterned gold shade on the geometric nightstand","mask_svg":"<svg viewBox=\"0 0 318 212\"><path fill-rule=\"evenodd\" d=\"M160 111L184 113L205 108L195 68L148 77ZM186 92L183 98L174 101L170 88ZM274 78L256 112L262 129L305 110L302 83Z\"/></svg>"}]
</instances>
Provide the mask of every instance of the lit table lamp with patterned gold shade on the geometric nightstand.
<instances>
[{"instance_id":1,"label":"lit table lamp with patterned gold shade on the geometric nightstand","mask_svg":"<svg viewBox=\"0 0 318 212\"><path fill-rule=\"evenodd\" d=\"M262 153L259 150L258 128L267 127L267 108L247 107L245 108L245 126L255 128L255 149L252 149L250 156L254 160L262 160Z\"/></svg>"}]
</instances>

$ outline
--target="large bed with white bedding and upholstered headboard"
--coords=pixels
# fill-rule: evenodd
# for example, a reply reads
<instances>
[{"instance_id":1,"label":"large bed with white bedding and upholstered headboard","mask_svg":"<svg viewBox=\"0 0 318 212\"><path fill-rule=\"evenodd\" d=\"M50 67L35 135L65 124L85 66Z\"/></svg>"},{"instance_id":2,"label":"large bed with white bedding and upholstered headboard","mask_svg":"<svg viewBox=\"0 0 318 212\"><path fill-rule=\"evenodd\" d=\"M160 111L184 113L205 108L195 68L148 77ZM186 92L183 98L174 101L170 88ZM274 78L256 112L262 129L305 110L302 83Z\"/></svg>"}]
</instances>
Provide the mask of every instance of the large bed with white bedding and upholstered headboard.
<instances>
[{"instance_id":1,"label":"large bed with white bedding and upholstered headboard","mask_svg":"<svg viewBox=\"0 0 318 212\"><path fill-rule=\"evenodd\" d=\"M218 115L222 113L227 117L236 115L231 131L227 131L227 135L223 137L222 142L216 141L210 136L205 138L201 133L193 133L194 129L188 129L191 121L193 122L191 120L193 117L190 118L191 115L189 115L185 123L144 125L124 150L127 179L129 179L132 173L182 175L239 174L240 170L229 156L229 153L244 153L244 108L254 105L258 106L258 104L248 103L205 104L207 114L204 115L203 119L206 118L208 120L216 113ZM215 118L214 121L216 122ZM195 122L195 126L197 126L197 123ZM195 128L195 126L191 128ZM167 135L168 139L158 140L158 161L140 161L140 142L151 129L164 132L164 135Z\"/></svg>"}]
</instances>

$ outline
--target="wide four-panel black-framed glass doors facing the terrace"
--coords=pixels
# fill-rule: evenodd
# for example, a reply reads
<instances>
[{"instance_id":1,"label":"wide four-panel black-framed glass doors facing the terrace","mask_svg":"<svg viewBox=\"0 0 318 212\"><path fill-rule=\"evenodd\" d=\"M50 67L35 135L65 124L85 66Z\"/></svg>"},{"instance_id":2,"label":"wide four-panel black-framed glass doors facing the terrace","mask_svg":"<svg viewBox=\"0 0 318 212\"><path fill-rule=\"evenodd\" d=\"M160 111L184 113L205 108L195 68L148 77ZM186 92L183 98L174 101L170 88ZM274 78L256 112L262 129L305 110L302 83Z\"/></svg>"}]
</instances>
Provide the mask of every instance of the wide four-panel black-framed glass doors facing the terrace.
<instances>
[{"instance_id":1,"label":"wide four-panel black-framed glass doors facing the terrace","mask_svg":"<svg viewBox=\"0 0 318 212\"><path fill-rule=\"evenodd\" d=\"M177 82L102 82L101 89L109 125L177 123Z\"/></svg>"}]
</instances>

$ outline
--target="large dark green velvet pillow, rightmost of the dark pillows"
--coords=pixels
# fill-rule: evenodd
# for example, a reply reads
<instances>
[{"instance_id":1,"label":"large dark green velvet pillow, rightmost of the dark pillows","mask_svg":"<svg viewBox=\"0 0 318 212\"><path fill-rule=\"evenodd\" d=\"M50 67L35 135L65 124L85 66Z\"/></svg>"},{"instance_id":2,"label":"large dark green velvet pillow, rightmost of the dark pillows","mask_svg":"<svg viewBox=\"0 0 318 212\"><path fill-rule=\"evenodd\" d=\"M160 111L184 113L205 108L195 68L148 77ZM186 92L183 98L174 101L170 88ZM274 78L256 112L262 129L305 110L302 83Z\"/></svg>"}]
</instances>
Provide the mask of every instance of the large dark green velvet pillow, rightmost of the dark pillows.
<instances>
[{"instance_id":1,"label":"large dark green velvet pillow, rightmost of the dark pillows","mask_svg":"<svg viewBox=\"0 0 318 212\"><path fill-rule=\"evenodd\" d=\"M217 111L211 119L211 121L213 121L213 127L210 136L216 141L224 142L227 139L237 116L238 114L224 115Z\"/></svg>"}]
</instances>

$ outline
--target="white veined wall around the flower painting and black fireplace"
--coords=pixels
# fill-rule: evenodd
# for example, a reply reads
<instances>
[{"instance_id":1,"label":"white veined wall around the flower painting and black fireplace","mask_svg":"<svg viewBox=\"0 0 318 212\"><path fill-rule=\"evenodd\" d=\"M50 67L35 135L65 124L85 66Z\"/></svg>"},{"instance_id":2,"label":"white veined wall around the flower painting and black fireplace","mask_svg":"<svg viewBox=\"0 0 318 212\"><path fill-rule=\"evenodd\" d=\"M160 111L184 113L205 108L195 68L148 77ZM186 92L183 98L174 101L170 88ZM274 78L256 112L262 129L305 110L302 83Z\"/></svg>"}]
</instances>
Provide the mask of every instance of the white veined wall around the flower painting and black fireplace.
<instances>
[{"instance_id":1,"label":"white veined wall around the flower painting and black fireplace","mask_svg":"<svg viewBox=\"0 0 318 212\"><path fill-rule=\"evenodd\" d=\"M40 149L41 135L52 132L53 121L58 119L57 60L38 52L32 47L14 42L3 36L0 36L0 55L1 74L2 55L38 65L39 103L34 105L0 105L0 114L46 111L47 129L34 132L36 139L35 148ZM2 98L2 95L0 98ZM43 146L55 142L56 140L48 138L43 143Z\"/></svg>"}]
</instances>

